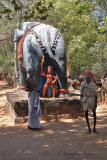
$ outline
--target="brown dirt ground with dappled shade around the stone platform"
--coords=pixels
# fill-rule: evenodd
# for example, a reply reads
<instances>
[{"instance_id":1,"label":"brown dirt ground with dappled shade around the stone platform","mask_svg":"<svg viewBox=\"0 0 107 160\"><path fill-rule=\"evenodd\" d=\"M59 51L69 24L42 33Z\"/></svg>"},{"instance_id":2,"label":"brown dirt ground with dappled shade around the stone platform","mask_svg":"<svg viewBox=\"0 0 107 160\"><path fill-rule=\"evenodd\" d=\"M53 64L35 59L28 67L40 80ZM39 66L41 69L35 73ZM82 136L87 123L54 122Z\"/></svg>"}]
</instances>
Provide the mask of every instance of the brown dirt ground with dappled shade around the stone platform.
<instances>
[{"instance_id":1,"label":"brown dirt ground with dappled shade around the stone platform","mask_svg":"<svg viewBox=\"0 0 107 160\"><path fill-rule=\"evenodd\" d=\"M6 111L6 92L0 88L0 160L107 160L107 106L97 108L99 134L87 134L84 117L41 120L41 131L30 131L27 123L14 125ZM5 84L6 86L6 84ZM91 125L93 123L90 114Z\"/></svg>"}]
</instances>

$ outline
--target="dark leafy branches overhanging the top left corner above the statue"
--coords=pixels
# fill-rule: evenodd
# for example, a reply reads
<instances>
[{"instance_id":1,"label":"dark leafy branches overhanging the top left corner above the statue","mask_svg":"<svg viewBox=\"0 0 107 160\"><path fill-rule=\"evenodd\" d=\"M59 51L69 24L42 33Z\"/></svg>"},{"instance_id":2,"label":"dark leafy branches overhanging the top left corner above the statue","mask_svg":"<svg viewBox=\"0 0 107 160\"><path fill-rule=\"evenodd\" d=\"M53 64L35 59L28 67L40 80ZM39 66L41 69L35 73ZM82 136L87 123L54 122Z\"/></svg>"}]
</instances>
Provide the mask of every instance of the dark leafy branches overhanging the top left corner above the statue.
<instances>
[{"instance_id":1,"label":"dark leafy branches overhanging the top left corner above the statue","mask_svg":"<svg viewBox=\"0 0 107 160\"><path fill-rule=\"evenodd\" d=\"M5 3L0 3L0 14L5 14L10 17L19 16L21 21L27 20L46 20L49 15L49 10L53 7L51 0L31 0L26 5L21 0L5 0ZM1 16L2 17L2 16Z\"/></svg>"}]
</instances>

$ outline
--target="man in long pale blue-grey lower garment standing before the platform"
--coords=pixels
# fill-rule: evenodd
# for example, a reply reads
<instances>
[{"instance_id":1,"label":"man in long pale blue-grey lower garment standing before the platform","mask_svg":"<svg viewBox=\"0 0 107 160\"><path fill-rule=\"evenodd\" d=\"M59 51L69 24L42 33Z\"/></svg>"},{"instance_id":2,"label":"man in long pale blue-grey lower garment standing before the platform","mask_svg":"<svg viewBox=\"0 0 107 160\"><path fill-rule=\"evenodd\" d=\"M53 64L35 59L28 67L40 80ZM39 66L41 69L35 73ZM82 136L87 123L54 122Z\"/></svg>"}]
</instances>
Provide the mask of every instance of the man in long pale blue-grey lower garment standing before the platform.
<instances>
[{"instance_id":1,"label":"man in long pale blue-grey lower garment standing before the platform","mask_svg":"<svg viewBox=\"0 0 107 160\"><path fill-rule=\"evenodd\" d=\"M28 79L26 81L26 91L28 91L28 129L39 130L40 125L40 100L39 93L37 90L37 83L35 78L35 71L33 68L28 70Z\"/></svg>"}]
</instances>

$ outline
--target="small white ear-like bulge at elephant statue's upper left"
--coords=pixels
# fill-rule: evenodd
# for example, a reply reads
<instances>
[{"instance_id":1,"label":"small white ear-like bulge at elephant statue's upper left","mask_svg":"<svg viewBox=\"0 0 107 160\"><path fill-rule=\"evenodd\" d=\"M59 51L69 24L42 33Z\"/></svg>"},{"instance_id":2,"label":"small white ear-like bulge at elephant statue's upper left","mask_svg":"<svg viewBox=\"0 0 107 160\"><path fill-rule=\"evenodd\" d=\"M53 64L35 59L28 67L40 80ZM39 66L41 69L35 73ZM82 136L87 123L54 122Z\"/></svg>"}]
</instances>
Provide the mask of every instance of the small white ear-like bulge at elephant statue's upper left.
<instances>
[{"instance_id":1,"label":"small white ear-like bulge at elephant statue's upper left","mask_svg":"<svg viewBox=\"0 0 107 160\"><path fill-rule=\"evenodd\" d=\"M18 42L23 35L24 35L24 31L19 30L19 29L15 29L14 36L13 36L13 41Z\"/></svg>"}]
</instances>

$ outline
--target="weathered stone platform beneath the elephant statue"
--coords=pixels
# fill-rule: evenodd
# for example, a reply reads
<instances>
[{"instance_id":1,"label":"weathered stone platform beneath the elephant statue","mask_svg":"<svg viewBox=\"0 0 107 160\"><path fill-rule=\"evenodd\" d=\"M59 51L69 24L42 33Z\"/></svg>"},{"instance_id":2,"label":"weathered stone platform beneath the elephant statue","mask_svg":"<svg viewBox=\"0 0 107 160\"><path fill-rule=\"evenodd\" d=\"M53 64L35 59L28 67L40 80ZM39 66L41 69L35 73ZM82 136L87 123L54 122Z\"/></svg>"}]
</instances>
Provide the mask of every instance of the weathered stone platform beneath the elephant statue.
<instances>
[{"instance_id":1,"label":"weathered stone platform beneath the elephant statue","mask_svg":"<svg viewBox=\"0 0 107 160\"><path fill-rule=\"evenodd\" d=\"M6 93L7 107L15 123L26 120L28 115L27 92L16 91ZM69 96L63 98L40 98L42 116L57 119L62 115L69 117L81 116L81 105L79 96Z\"/></svg>"}]
</instances>

